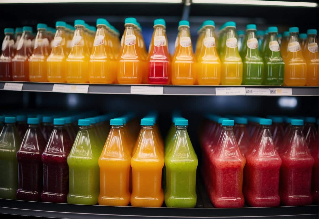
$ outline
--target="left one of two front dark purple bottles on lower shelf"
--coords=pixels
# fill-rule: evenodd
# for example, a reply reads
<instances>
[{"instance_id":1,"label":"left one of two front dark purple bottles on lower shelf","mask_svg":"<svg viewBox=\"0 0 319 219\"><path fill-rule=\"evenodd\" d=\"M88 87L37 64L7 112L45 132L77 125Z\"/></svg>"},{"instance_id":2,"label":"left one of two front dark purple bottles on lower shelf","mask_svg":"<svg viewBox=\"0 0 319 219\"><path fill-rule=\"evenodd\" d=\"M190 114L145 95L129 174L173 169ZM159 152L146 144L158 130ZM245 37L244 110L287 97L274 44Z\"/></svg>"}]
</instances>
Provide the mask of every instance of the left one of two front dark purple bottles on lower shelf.
<instances>
[{"instance_id":1,"label":"left one of two front dark purple bottles on lower shelf","mask_svg":"<svg viewBox=\"0 0 319 219\"><path fill-rule=\"evenodd\" d=\"M19 185L16 198L18 200L40 201L43 186L41 155L46 141L40 130L38 118L28 118L28 125L17 152Z\"/></svg>"}]
</instances>

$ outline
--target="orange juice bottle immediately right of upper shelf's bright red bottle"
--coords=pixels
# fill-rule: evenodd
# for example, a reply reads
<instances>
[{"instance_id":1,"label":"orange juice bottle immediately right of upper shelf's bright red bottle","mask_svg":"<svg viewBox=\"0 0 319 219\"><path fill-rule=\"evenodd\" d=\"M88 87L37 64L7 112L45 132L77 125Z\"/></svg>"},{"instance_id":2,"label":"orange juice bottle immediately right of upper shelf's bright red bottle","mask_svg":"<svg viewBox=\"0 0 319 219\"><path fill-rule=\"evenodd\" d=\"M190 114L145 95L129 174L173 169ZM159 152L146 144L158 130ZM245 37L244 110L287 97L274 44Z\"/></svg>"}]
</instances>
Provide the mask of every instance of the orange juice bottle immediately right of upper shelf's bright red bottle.
<instances>
[{"instance_id":1,"label":"orange juice bottle immediately right of upper shelf's bright red bottle","mask_svg":"<svg viewBox=\"0 0 319 219\"><path fill-rule=\"evenodd\" d=\"M172 58L172 84L193 85L196 81L196 59L190 40L189 22L181 20L178 30L178 45Z\"/></svg>"}]
</instances>

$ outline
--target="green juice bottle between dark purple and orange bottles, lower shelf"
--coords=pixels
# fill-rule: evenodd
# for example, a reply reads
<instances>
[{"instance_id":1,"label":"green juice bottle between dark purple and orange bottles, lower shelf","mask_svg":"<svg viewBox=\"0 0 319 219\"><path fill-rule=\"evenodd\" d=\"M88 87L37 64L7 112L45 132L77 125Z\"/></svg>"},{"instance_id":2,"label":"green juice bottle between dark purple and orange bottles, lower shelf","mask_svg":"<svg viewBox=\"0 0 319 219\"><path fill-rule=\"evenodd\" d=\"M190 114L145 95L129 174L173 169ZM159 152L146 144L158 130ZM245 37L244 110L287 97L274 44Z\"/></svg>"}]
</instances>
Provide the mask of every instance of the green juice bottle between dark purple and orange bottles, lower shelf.
<instances>
[{"instance_id":1,"label":"green juice bottle between dark purple and orange bottles, lower shelf","mask_svg":"<svg viewBox=\"0 0 319 219\"><path fill-rule=\"evenodd\" d=\"M68 203L95 205L98 202L100 147L90 131L90 120L78 120L79 131L67 158L69 165Z\"/></svg>"}]
</instances>

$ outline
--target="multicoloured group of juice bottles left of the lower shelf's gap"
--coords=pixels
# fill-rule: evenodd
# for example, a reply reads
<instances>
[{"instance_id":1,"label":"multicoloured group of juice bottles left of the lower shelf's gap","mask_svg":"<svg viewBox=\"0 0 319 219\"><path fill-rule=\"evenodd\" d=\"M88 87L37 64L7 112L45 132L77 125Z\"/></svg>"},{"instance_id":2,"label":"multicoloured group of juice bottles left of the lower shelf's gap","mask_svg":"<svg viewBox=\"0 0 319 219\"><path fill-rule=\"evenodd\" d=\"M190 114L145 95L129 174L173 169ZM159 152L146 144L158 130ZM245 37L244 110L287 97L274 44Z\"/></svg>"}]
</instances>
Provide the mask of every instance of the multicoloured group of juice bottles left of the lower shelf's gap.
<instances>
[{"instance_id":1,"label":"multicoloured group of juice bottles left of the lower shelf's gap","mask_svg":"<svg viewBox=\"0 0 319 219\"><path fill-rule=\"evenodd\" d=\"M195 207L198 161L188 120L174 121L164 146L156 113L141 119L139 133L133 114L112 116L78 119L78 127L74 116L30 117L27 123L23 115L0 117L0 197L140 207L161 207L165 200L167 207Z\"/></svg>"}]
</instances>

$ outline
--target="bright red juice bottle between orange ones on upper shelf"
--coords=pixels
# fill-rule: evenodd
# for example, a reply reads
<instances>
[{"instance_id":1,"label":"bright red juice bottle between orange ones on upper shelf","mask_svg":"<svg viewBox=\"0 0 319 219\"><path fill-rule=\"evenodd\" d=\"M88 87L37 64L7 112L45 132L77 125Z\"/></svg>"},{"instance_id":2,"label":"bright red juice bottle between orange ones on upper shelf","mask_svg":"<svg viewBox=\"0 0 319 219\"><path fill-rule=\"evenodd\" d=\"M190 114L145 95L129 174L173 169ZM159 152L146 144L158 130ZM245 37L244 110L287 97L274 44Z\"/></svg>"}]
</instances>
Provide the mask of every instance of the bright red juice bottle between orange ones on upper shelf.
<instances>
[{"instance_id":1,"label":"bright red juice bottle between orange ones on upper shelf","mask_svg":"<svg viewBox=\"0 0 319 219\"><path fill-rule=\"evenodd\" d=\"M154 32L152 36L148 61L148 83L169 84L171 76L171 58L167 47L167 36L165 33L165 20L154 20Z\"/></svg>"}]
</instances>

